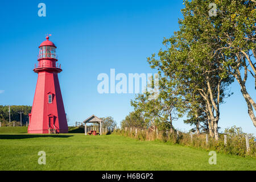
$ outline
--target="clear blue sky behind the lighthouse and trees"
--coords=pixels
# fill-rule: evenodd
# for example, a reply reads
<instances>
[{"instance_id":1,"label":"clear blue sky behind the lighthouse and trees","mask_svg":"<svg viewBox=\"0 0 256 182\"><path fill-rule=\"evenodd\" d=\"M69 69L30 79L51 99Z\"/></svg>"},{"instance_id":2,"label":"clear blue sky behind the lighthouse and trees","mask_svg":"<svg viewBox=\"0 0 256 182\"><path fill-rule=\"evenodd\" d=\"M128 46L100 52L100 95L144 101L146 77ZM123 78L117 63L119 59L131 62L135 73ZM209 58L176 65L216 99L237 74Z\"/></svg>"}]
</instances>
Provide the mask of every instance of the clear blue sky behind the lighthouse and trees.
<instances>
[{"instance_id":1,"label":"clear blue sky behind the lighthouse and trees","mask_svg":"<svg viewBox=\"0 0 256 182\"><path fill-rule=\"evenodd\" d=\"M38 4L46 4L46 17ZM164 37L178 30L183 1L1 1L0 105L32 105L38 46L46 34L57 46L61 92L68 125L90 115L112 116L119 123L133 110L134 94L99 94L100 73L154 73L146 57L157 53ZM250 77L247 88L255 98ZM221 130L233 125L256 134L237 82L221 105ZM187 131L182 119L174 126Z\"/></svg>"}]
</instances>

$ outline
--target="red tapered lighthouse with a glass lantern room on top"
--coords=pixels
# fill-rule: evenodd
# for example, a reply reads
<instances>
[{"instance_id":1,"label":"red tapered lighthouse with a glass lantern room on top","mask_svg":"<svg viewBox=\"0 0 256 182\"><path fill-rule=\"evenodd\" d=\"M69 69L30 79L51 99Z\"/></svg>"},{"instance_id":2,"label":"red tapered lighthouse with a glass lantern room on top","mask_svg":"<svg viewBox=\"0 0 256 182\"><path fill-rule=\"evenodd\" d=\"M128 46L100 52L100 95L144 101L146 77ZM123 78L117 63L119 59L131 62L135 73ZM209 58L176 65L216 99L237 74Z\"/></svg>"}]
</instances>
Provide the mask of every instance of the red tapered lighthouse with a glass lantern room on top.
<instances>
[{"instance_id":1,"label":"red tapered lighthouse with a glass lantern room on top","mask_svg":"<svg viewBox=\"0 0 256 182\"><path fill-rule=\"evenodd\" d=\"M60 91L58 73L62 71L56 63L56 46L46 37L39 46L38 73L35 97L30 114L28 133L68 133L67 118Z\"/></svg>"}]
</instances>

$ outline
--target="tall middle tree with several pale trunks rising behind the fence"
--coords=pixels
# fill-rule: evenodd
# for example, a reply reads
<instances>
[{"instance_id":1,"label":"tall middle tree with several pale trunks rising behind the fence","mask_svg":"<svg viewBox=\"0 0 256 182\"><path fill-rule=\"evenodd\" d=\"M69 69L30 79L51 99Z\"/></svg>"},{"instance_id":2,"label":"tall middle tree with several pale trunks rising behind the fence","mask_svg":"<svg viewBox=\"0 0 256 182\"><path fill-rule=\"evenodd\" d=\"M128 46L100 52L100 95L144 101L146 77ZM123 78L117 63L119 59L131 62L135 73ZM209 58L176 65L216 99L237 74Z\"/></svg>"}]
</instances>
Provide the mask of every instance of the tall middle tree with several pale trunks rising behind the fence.
<instances>
[{"instance_id":1,"label":"tall middle tree with several pale trunks rising behind the fence","mask_svg":"<svg viewBox=\"0 0 256 182\"><path fill-rule=\"evenodd\" d=\"M223 69L223 56L220 51L216 51L216 45L208 43L206 33L201 35L200 26L208 22L209 18L206 7L207 1L185 1L185 9L182 10L184 19L179 20L180 30L171 38L164 39L166 50L160 49L159 59L153 54L148 62L151 68L158 69L176 81L178 93L185 100L188 94L201 97L209 134L218 140L219 105L230 95L227 91L233 79ZM214 27L212 24L208 26Z\"/></svg>"}]
</instances>

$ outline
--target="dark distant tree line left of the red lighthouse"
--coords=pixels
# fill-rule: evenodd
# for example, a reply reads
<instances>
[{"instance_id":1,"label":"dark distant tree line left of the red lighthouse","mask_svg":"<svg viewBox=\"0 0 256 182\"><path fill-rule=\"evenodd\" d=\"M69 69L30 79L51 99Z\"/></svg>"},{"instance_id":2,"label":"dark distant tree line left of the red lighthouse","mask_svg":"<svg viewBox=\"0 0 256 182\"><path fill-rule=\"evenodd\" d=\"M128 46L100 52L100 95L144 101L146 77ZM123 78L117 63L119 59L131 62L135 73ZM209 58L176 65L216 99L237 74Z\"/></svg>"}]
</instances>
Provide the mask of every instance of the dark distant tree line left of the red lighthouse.
<instances>
[{"instance_id":1,"label":"dark distant tree line left of the red lighthouse","mask_svg":"<svg viewBox=\"0 0 256 182\"><path fill-rule=\"evenodd\" d=\"M31 113L31 109L32 106L10 106L11 122L20 122L19 112L23 112L22 123L25 124L28 122L28 114ZM0 122L9 123L9 106L0 105Z\"/></svg>"}]
</instances>

